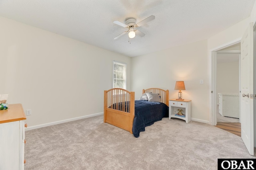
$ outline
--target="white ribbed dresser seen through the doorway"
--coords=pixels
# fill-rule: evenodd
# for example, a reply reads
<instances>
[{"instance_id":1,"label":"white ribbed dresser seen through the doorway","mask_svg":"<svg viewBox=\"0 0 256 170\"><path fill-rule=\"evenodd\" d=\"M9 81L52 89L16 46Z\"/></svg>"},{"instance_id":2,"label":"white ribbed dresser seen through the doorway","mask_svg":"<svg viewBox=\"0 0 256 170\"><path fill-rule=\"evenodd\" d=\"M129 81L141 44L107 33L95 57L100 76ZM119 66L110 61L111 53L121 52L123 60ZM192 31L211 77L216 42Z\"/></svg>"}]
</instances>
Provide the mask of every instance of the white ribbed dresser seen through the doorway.
<instances>
[{"instance_id":1,"label":"white ribbed dresser seen through the doorway","mask_svg":"<svg viewBox=\"0 0 256 170\"><path fill-rule=\"evenodd\" d=\"M239 93L218 93L219 113L226 117L240 117Z\"/></svg>"}]
</instances>

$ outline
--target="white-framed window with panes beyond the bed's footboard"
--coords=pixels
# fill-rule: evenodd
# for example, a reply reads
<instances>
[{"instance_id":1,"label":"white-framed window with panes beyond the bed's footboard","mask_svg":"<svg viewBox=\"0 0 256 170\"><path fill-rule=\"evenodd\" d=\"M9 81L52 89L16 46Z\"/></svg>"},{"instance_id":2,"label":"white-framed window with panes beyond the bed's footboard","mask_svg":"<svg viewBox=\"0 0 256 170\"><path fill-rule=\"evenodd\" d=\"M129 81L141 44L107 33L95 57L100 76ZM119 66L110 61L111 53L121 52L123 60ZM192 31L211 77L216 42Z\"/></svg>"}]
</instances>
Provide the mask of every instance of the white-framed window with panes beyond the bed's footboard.
<instances>
[{"instance_id":1,"label":"white-framed window with panes beyond the bed's footboard","mask_svg":"<svg viewBox=\"0 0 256 170\"><path fill-rule=\"evenodd\" d=\"M126 64L113 61L113 88L126 89Z\"/></svg>"}]
</instances>

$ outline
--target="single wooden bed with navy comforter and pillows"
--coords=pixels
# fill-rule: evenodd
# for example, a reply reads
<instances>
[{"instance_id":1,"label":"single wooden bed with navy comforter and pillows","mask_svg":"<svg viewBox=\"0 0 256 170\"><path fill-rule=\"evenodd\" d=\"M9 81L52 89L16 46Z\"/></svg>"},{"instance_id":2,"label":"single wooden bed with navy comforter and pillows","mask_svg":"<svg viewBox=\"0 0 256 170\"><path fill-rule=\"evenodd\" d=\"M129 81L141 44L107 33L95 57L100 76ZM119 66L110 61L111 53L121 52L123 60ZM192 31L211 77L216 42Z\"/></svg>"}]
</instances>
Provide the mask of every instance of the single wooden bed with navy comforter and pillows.
<instances>
[{"instance_id":1,"label":"single wooden bed with navy comforter and pillows","mask_svg":"<svg viewBox=\"0 0 256 170\"><path fill-rule=\"evenodd\" d=\"M149 100L146 100L148 96ZM168 117L168 105L169 90L143 89L140 100L135 100L134 92L112 88L104 91L104 122L129 131L134 137L139 137L146 126Z\"/></svg>"}]
</instances>

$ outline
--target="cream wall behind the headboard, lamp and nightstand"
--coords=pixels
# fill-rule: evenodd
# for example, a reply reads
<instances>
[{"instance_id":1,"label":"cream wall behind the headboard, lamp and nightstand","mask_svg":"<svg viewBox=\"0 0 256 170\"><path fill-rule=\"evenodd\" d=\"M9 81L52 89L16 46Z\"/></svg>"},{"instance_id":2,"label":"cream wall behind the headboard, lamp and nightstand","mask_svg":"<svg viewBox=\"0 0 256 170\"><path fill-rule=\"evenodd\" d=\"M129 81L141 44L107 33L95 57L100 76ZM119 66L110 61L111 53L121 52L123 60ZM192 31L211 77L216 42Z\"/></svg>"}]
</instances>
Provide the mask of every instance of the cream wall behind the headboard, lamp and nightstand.
<instances>
[{"instance_id":1,"label":"cream wall behind the headboard, lamp and nightstand","mask_svg":"<svg viewBox=\"0 0 256 170\"><path fill-rule=\"evenodd\" d=\"M192 100L192 119L209 121L206 40L133 57L131 76L136 99L143 88L168 89L169 98L177 98L175 82L183 80L186 90L182 91L182 98ZM199 84L200 79L204 84Z\"/></svg>"}]
</instances>

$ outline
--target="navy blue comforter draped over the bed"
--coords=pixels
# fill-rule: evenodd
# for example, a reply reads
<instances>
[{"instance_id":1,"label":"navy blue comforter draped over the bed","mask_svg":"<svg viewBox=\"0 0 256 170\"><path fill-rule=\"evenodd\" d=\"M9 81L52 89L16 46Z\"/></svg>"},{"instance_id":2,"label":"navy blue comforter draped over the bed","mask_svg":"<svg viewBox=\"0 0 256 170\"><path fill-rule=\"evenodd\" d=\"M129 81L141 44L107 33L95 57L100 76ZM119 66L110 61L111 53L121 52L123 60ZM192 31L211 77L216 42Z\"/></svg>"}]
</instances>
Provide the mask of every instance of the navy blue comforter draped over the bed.
<instances>
[{"instance_id":1,"label":"navy blue comforter draped over the bed","mask_svg":"<svg viewBox=\"0 0 256 170\"><path fill-rule=\"evenodd\" d=\"M169 107L164 103L135 100L135 116L132 126L134 137L139 137L145 127L168 117Z\"/></svg>"}]
</instances>

